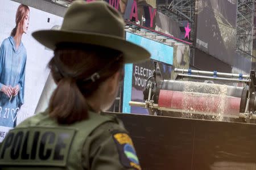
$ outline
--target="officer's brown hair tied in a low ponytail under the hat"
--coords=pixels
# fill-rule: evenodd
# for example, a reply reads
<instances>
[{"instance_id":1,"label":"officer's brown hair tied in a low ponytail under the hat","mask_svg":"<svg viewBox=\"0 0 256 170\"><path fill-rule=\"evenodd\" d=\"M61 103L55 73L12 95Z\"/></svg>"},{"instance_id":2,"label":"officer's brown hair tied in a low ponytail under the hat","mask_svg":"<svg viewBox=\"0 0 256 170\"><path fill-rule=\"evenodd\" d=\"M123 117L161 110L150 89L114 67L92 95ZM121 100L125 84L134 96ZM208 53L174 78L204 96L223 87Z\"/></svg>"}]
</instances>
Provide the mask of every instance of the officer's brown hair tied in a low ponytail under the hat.
<instances>
[{"instance_id":1,"label":"officer's brown hair tied in a low ponytail under the hat","mask_svg":"<svg viewBox=\"0 0 256 170\"><path fill-rule=\"evenodd\" d=\"M93 95L102 82L123 69L123 58L120 56L121 52L101 46L59 45L49 62L57 83L49 103L49 115L60 124L72 124L88 118L86 97ZM96 72L100 73L100 79L95 82L86 80Z\"/></svg>"}]
</instances>

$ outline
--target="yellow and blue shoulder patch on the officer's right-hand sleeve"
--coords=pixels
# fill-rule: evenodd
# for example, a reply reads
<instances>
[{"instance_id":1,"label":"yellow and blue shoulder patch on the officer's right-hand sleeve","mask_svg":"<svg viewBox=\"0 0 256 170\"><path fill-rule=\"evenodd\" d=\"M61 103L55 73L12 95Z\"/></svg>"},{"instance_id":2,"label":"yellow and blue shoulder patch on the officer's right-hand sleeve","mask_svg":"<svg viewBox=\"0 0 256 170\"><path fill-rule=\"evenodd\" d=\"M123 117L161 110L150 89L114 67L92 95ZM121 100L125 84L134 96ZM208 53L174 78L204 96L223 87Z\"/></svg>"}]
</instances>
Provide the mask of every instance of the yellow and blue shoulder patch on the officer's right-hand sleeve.
<instances>
[{"instance_id":1,"label":"yellow and blue shoulder patch on the officer's right-hand sleeve","mask_svg":"<svg viewBox=\"0 0 256 170\"><path fill-rule=\"evenodd\" d=\"M139 159L137 157L133 141L127 133L117 132L113 134L115 144L117 145L121 164L127 168L135 168L141 170Z\"/></svg>"}]
</instances>

